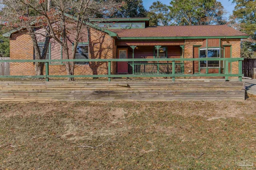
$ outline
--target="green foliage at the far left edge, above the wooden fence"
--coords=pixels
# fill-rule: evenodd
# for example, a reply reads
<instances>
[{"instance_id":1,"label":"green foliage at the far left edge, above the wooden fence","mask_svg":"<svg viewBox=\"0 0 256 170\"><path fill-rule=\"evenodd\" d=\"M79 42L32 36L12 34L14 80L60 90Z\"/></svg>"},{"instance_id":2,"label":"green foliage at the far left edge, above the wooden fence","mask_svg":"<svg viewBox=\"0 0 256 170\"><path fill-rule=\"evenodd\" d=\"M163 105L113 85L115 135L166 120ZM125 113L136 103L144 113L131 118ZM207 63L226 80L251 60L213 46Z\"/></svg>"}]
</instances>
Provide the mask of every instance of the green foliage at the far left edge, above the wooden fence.
<instances>
[{"instance_id":1,"label":"green foliage at the far left edge, above the wooden fence","mask_svg":"<svg viewBox=\"0 0 256 170\"><path fill-rule=\"evenodd\" d=\"M0 27L0 57L10 57L9 38L2 36L2 33L7 31Z\"/></svg>"}]
</instances>

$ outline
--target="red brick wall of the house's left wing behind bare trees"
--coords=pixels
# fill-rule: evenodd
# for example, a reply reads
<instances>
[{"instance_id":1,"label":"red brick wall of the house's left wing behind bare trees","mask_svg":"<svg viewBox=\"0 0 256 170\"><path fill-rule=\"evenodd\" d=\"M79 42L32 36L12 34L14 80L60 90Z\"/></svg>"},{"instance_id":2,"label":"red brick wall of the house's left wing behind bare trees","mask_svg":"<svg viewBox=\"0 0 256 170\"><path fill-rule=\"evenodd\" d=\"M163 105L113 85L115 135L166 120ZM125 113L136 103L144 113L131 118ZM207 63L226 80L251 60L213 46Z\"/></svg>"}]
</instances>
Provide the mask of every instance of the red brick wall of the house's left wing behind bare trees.
<instances>
[{"instance_id":1,"label":"red brick wall of the house's left wing behind bare trees","mask_svg":"<svg viewBox=\"0 0 256 170\"><path fill-rule=\"evenodd\" d=\"M87 33L85 31L84 33ZM69 48L72 51L72 48ZM16 33L10 38L10 59L33 59L33 43L30 35ZM116 58L116 46L112 37L95 29L89 33L89 58L112 59ZM59 57L60 58L60 57ZM35 75L33 63L11 63L10 75ZM112 72L116 71L116 64L112 64ZM50 75L66 75L63 64L49 64ZM89 65L77 64L75 75L82 74L108 74L108 63L91 62Z\"/></svg>"}]
</instances>

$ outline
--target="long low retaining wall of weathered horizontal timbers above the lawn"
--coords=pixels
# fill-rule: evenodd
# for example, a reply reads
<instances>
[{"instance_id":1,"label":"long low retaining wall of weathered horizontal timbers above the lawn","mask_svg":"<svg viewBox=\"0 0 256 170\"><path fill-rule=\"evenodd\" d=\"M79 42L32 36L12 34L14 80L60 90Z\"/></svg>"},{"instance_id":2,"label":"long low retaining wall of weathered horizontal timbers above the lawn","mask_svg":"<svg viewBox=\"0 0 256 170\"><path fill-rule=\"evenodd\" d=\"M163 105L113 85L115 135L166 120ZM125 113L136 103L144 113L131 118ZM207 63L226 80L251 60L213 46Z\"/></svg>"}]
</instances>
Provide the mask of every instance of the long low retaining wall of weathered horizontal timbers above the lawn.
<instances>
[{"instance_id":1,"label":"long low retaining wall of weathered horizontal timbers above the lawn","mask_svg":"<svg viewBox=\"0 0 256 170\"><path fill-rule=\"evenodd\" d=\"M0 82L0 102L245 100L243 82Z\"/></svg>"}]
</instances>

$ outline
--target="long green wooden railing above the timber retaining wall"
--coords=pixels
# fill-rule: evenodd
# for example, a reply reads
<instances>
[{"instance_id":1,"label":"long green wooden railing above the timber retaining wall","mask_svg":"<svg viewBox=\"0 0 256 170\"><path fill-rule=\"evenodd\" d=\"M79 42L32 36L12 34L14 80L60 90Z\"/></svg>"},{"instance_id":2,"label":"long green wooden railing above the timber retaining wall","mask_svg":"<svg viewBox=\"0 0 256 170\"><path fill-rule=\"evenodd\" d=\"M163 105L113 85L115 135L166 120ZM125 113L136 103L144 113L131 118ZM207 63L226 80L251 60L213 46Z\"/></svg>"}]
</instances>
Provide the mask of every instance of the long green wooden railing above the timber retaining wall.
<instances>
[{"instance_id":1,"label":"long green wooden railing above the timber retaining wall","mask_svg":"<svg viewBox=\"0 0 256 170\"><path fill-rule=\"evenodd\" d=\"M0 76L0 78L46 78L46 81L49 81L49 78L68 78L68 77L74 77L74 78L100 78L100 77L106 77L108 78L108 81L111 80L111 78L118 78L118 77L172 77L172 81L175 81L175 77L225 77L226 80L228 80L228 77L238 77L240 81L242 81L242 61L244 58L196 58L196 59L172 59L172 58L160 58L160 59L62 59L62 60L0 60L0 63L9 62L9 63L34 63L34 62L44 62L45 63L45 75L40 76ZM157 72L157 74L111 74L111 64L113 62L118 61L125 61L125 62L132 62L132 64L135 64L134 62L142 62L140 66L144 66L146 62L159 62L159 61L168 61L166 64L168 69L163 74L162 72ZM176 62L184 62L183 63L175 63ZM186 63L193 62L193 61L224 61L225 67L224 67L224 73L206 73L206 74L186 74L184 72L184 67L186 67ZM94 75L49 75L49 63L50 62L106 62L108 63L108 74L94 74ZM144 65L143 65L144 62ZM232 62L238 62L238 74L232 74L228 73L228 63ZM137 63L136 63L137 64ZM164 65L163 63L154 63L158 64L158 67L160 65ZM192 64L190 64L191 66ZM50 65L52 66L52 65ZM171 70L170 68L171 67ZM158 69L160 70L160 68ZM140 71L141 72L141 71Z\"/></svg>"}]
</instances>

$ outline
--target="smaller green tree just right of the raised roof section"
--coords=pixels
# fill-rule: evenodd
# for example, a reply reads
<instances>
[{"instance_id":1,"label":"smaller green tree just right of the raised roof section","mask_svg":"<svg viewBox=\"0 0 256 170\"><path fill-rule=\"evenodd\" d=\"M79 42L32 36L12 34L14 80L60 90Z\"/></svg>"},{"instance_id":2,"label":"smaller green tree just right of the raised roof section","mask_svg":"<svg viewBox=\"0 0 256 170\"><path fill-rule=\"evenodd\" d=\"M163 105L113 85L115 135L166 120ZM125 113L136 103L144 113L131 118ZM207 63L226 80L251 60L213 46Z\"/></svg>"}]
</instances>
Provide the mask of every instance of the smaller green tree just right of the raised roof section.
<instances>
[{"instance_id":1,"label":"smaller green tree just right of the raised roof section","mask_svg":"<svg viewBox=\"0 0 256 170\"><path fill-rule=\"evenodd\" d=\"M150 18L149 25L169 25L170 16L169 9L166 4L160 1L153 2L149 7L148 18Z\"/></svg>"}]
</instances>

